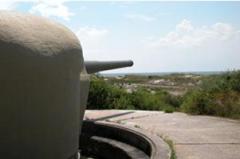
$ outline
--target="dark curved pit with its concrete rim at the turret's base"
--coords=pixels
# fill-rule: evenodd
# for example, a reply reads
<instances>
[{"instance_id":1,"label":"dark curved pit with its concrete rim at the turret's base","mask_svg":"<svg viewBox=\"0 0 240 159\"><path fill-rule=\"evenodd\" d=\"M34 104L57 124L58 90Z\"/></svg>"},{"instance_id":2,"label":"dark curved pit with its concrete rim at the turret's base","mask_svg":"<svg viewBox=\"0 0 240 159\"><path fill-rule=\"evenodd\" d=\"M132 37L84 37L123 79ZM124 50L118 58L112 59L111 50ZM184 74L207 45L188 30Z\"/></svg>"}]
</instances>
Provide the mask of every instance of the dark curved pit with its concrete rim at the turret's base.
<instances>
[{"instance_id":1,"label":"dark curved pit with its concrete rim at the turret's base","mask_svg":"<svg viewBox=\"0 0 240 159\"><path fill-rule=\"evenodd\" d=\"M158 136L142 129L84 121L80 137L83 155L104 159L169 159L170 149Z\"/></svg>"}]
</instances>

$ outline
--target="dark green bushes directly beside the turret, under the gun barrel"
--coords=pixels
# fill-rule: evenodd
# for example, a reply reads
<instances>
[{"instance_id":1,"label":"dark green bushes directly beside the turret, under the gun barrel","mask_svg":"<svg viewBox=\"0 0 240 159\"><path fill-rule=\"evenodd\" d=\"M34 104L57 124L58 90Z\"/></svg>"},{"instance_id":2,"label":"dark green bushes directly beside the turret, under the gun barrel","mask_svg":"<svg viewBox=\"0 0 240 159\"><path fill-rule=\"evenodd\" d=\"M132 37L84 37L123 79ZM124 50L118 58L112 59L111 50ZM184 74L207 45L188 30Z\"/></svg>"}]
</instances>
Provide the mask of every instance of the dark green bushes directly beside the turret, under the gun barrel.
<instances>
[{"instance_id":1,"label":"dark green bushes directly beside the turret, under the gun barrel","mask_svg":"<svg viewBox=\"0 0 240 159\"><path fill-rule=\"evenodd\" d=\"M152 93L145 88L138 88L133 93L127 93L123 88L110 85L102 78L91 81L88 109L140 109L174 111L179 105L178 99L167 92L158 90Z\"/></svg>"}]
</instances>

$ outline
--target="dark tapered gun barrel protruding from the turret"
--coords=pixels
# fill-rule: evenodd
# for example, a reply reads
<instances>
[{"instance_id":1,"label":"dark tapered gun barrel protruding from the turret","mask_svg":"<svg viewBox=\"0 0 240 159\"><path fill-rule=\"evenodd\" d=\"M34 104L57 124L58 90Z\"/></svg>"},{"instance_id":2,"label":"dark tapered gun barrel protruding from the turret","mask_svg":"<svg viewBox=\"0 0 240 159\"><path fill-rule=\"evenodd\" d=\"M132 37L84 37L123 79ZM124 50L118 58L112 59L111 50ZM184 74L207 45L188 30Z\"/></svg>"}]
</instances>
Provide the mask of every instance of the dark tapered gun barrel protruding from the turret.
<instances>
[{"instance_id":1,"label":"dark tapered gun barrel protruding from the turret","mask_svg":"<svg viewBox=\"0 0 240 159\"><path fill-rule=\"evenodd\" d=\"M100 71L106 71L116 68L130 67L133 65L133 61L86 61L85 67L87 73L96 73Z\"/></svg>"}]
</instances>

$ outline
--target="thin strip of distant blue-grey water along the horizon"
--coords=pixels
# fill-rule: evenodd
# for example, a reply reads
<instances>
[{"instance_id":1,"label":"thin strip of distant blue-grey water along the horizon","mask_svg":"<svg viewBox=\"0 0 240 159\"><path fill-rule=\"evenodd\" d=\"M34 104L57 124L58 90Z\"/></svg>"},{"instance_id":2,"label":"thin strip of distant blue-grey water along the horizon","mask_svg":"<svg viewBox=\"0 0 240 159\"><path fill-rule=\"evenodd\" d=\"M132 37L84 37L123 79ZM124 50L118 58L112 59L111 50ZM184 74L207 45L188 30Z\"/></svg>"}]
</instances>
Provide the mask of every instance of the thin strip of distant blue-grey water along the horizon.
<instances>
[{"instance_id":1,"label":"thin strip of distant blue-grey water along the horizon","mask_svg":"<svg viewBox=\"0 0 240 159\"><path fill-rule=\"evenodd\" d=\"M224 73L223 71L200 71L200 72L142 72L142 73L99 73L104 77L119 77L127 75L135 76L165 76L171 74L194 74L194 75L218 75Z\"/></svg>"}]
</instances>

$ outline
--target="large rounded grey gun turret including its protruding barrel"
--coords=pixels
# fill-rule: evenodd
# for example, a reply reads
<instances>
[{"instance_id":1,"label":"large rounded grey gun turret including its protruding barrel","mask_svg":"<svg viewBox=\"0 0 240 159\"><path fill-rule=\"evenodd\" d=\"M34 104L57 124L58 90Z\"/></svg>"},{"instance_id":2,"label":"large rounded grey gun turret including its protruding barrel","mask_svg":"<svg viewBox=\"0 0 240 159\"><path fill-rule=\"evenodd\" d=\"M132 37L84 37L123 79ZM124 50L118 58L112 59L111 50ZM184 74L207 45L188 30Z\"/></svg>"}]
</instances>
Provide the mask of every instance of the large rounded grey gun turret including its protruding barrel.
<instances>
[{"instance_id":1,"label":"large rounded grey gun turret including its protruding barrel","mask_svg":"<svg viewBox=\"0 0 240 159\"><path fill-rule=\"evenodd\" d=\"M84 62L78 38L65 26L1 11L1 158L78 158L89 74L132 64Z\"/></svg>"}]
</instances>

